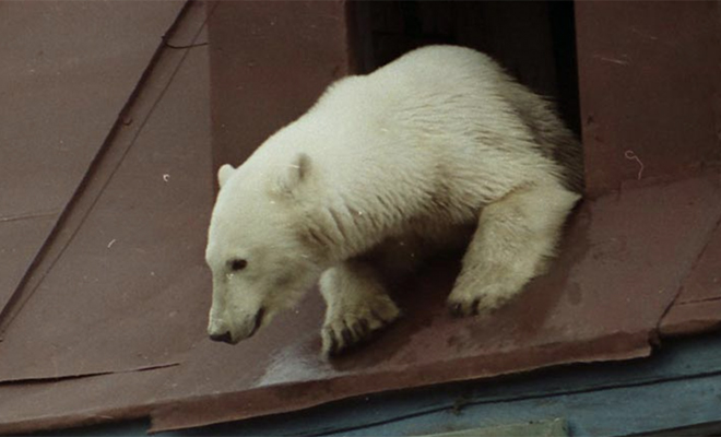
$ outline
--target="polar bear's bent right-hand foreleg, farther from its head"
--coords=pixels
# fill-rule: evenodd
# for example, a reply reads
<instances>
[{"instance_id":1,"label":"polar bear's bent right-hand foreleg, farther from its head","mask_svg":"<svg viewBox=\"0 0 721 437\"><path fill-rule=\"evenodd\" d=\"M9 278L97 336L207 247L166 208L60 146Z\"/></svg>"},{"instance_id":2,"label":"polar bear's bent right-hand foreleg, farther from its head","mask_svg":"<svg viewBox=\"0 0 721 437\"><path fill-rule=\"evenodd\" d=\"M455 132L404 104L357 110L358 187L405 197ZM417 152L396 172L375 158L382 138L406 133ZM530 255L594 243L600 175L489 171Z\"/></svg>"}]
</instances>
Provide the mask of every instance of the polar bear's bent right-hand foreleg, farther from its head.
<instances>
[{"instance_id":1,"label":"polar bear's bent right-hand foreleg, farther from its head","mask_svg":"<svg viewBox=\"0 0 721 437\"><path fill-rule=\"evenodd\" d=\"M457 316L488 312L544 272L579 199L558 184L518 188L485 206L448 297Z\"/></svg>"}]
</instances>

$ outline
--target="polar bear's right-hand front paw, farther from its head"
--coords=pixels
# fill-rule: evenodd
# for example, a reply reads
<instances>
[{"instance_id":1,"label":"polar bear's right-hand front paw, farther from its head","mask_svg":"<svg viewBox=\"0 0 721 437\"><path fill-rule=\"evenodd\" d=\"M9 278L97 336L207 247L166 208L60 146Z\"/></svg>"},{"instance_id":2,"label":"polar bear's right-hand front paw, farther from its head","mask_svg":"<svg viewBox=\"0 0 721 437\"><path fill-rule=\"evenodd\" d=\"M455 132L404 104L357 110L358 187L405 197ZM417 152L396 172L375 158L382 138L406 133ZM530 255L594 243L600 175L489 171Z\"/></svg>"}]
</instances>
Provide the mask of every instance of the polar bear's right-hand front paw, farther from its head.
<instances>
[{"instance_id":1,"label":"polar bear's right-hand front paw, farther from its head","mask_svg":"<svg viewBox=\"0 0 721 437\"><path fill-rule=\"evenodd\" d=\"M520 287L504 284L456 287L448 296L448 309L457 317L487 315L510 300Z\"/></svg>"}]
</instances>

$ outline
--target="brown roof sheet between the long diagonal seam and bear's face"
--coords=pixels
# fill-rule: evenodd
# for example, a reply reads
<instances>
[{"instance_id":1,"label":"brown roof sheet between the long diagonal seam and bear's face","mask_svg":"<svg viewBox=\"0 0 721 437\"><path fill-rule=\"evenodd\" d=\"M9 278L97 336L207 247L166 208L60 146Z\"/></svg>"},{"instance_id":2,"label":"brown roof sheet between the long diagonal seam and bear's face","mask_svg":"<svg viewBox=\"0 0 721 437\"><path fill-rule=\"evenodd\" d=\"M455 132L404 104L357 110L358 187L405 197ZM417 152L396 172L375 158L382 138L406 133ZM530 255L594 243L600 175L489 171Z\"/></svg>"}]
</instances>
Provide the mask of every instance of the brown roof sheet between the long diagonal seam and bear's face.
<instances>
[{"instance_id":1,"label":"brown roof sheet between the long diagonal seam and bear's face","mask_svg":"<svg viewBox=\"0 0 721 437\"><path fill-rule=\"evenodd\" d=\"M168 50L158 71L110 145L117 161L98 164L75 202L87 211L64 222L59 258L4 331L0 381L172 365L204 338L206 50Z\"/></svg>"}]
</instances>

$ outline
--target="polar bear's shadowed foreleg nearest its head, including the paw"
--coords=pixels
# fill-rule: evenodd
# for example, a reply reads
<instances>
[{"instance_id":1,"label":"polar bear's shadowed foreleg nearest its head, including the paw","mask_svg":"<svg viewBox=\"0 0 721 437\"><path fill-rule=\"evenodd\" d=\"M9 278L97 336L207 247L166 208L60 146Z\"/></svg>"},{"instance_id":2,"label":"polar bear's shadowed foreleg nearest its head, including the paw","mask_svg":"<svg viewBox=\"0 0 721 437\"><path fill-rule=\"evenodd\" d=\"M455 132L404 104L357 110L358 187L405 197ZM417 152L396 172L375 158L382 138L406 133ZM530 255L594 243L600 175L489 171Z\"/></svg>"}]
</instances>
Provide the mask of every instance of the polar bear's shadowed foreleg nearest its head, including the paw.
<instances>
[{"instance_id":1,"label":"polar bear's shadowed foreleg nearest its head, including the paw","mask_svg":"<svg viewBox=\"0 0 721 437\"><path fill-rule=\"evenodd\" d=\"M363 261L346 261L326 271L320 292L328 306L321 331L326 356L370 339L400 315L376 269Z\"/></svg>"}]
</instances>

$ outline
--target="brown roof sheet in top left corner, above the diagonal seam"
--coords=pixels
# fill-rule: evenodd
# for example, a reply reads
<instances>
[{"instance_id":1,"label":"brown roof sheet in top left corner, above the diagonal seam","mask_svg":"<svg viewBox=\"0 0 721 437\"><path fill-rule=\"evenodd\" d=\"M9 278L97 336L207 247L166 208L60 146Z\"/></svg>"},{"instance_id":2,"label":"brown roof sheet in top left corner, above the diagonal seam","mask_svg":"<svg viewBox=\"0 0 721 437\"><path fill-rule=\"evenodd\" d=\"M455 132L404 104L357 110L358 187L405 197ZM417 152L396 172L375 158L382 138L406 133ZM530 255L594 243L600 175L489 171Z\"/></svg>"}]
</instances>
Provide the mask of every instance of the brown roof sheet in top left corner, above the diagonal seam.
<instances>
[{"instance_id":1,"label":"brown roof sheet in top left corner, above the diagonal seam","mask_svg":"<svg viewBox=\"0 0 721 437\"><path fill-rule=\"evenodd\" d=\"M0 40L0 310L78 189L181 1L8 2ZM35 217L43 216L44 220ZM2 255L0 255L1 257Z\"/></svg>"}]
</instances>

